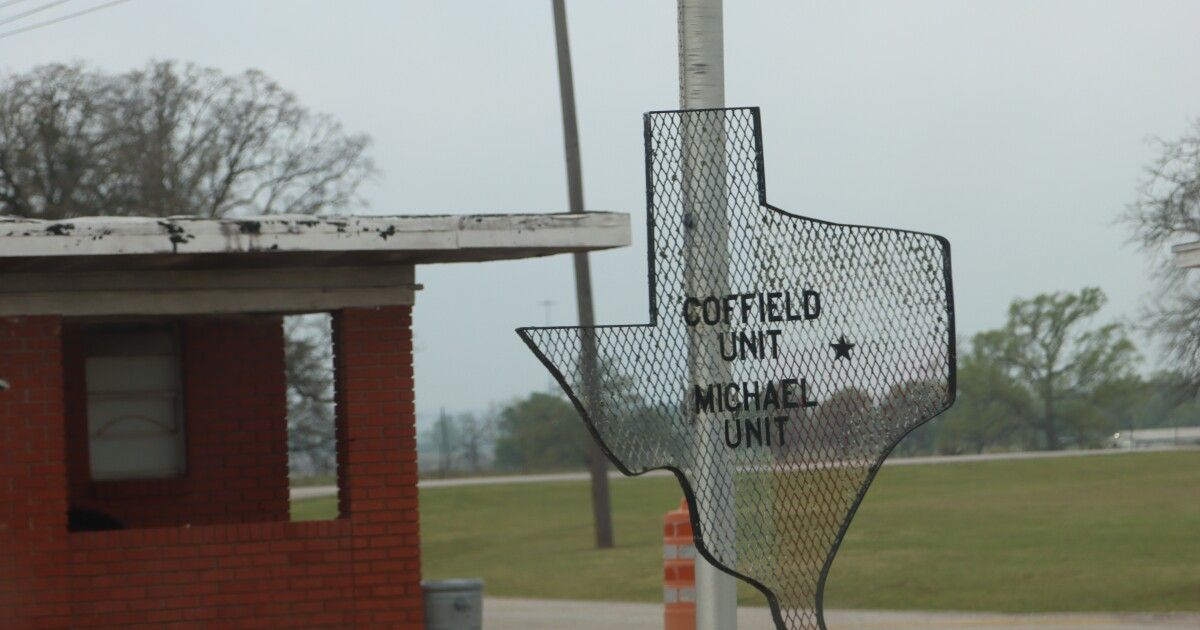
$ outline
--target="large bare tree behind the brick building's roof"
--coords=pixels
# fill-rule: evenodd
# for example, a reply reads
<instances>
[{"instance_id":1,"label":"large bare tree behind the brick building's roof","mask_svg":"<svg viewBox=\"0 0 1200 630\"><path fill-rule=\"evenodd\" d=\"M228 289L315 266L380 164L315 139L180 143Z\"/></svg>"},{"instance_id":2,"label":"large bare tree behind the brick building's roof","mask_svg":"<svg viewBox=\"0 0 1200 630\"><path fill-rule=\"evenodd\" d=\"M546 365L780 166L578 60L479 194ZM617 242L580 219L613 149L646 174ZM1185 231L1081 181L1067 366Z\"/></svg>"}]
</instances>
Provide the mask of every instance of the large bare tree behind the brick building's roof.
<instances>
[{"instance_id":1,"label":"large bare tree behind the brick building's roof","mask_svg":"<svg viewBox=\"0 0 1200 630\"><path fill-rule=\"evenodd\" d=\"M368 144L253 70L41 66L0 78L0 215L332 212L374 173ZM289 446L330 472L328 325L287 332Z\"/></svg>"}]
</instances>

